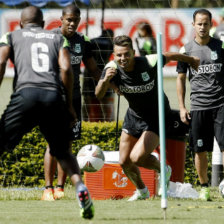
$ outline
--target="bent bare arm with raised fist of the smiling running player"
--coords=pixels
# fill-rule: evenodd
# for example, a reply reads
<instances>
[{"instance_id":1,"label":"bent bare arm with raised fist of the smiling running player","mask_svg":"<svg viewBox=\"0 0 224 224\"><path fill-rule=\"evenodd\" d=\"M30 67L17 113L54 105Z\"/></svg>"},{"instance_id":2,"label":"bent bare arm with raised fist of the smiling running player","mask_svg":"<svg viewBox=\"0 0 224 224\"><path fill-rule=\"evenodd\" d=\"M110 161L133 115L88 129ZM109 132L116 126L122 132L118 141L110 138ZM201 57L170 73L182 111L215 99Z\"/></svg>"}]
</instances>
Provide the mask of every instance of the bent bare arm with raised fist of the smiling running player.
<instances>
[{"instance_id":1,"label":"bent bare arm with raised fist of the smiling running player","mask_svg":"<svg viewBox=\"0 0 224 224\"><path fill-rule=\"evenodd\" d=\"M100 79L95 90L96 97L102 99L106 94L108 88L112 87L110 80L116 75L117 71L115 68L108 68L104 79Z\"/></svg>"}]
</instances>

